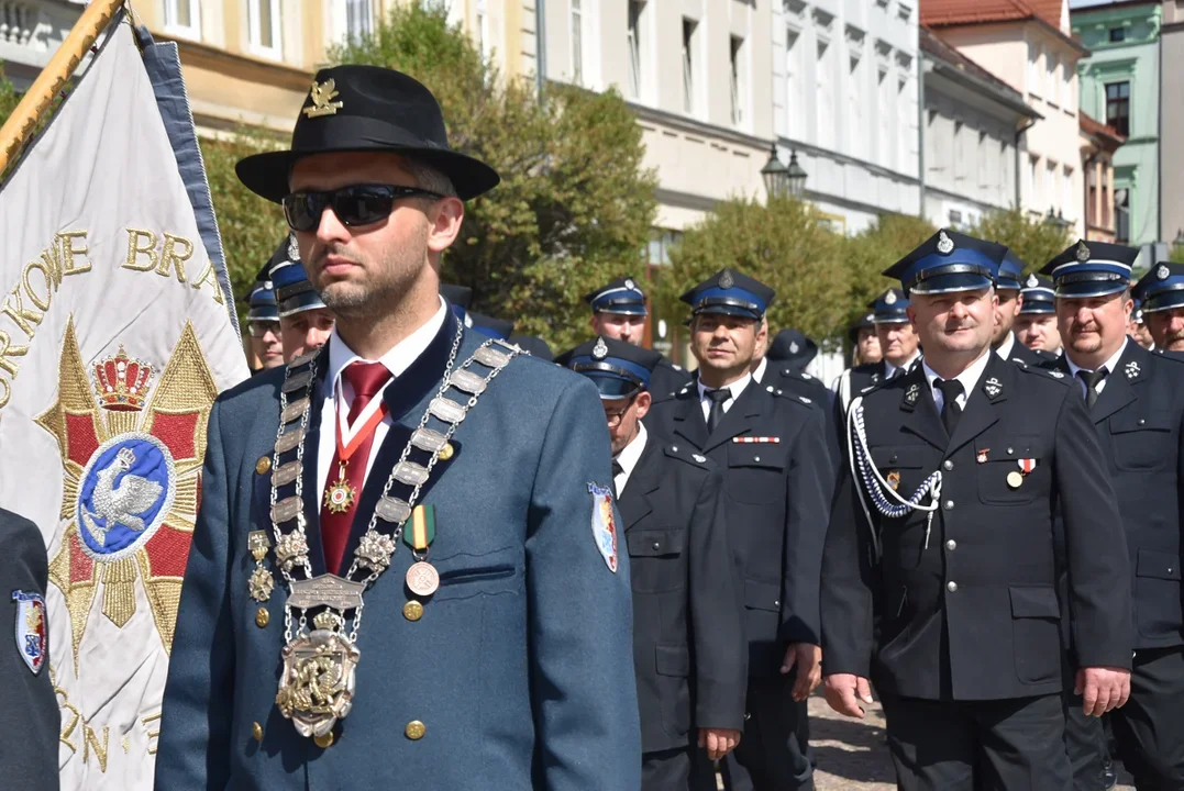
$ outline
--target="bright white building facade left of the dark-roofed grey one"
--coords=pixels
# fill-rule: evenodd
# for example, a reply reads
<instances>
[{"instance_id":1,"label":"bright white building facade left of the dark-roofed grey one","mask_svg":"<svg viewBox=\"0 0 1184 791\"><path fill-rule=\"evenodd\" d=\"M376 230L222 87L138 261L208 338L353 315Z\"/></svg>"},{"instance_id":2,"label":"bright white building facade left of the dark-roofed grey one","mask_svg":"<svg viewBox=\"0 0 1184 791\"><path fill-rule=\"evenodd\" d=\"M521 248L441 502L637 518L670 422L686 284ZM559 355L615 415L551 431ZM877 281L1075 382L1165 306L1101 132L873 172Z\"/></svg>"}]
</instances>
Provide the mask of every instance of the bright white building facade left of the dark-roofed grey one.
<instances>
[{"instance_id":1,"label":"bright white building facade left of the dark-roofed grey one","mask_svg":"<svg viewBox=\"0 0 1184 791\"><path fill-rule=\"evenodd\" d=\"M779 0L771 21L773 129L806 197L842 233L920 214L916 4Z\"/></svg>"}]
</instances>

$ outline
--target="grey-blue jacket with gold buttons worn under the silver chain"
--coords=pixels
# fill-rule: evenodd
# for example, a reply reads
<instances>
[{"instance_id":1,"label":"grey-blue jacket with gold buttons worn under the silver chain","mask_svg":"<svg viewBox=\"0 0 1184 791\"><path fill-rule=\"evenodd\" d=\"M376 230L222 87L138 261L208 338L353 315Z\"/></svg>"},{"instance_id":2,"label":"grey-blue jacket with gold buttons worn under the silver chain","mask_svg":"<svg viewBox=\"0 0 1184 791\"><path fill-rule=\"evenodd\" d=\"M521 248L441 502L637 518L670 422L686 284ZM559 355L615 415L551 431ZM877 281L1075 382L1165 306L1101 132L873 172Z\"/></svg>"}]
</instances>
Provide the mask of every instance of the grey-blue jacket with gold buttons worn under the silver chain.
<instances>
[{"instance_id":1,"label":"grey-blue jacket with gold buttons worn under the silver chain","mask_svg":"<svg viewBox=\"0 0 1184 791\"><path fill-rule=\"evenodd\" d=\"M451 313L450 313L451 316ZM384 391L394 421L361 493L353 556L387 478L442 381L456 331ZM465 331L457 365L487 339ZM318 371L328 354L322 352ZM165 692L156 787L637 789L641 734L624 539L617 571L593 537L590 484L611 488L604 413L586 378L517 357L459 424L420 501L436 506L439 591L410 621L400 544L365 595L353 709L322 750L275 705L285 584L263 607L247 591L247 533L266 530L283 369L224 393L210 416L201 507ZM320 375L318 375L320 378ZM320 404L324 383L315 388ZM324 572L309 419L304 513L313 572ZM309 495L309 492L314 492ZM619 516L614 518L619 525ZM265 568L274 570L274 555ZM408 722L425 726L405 735ZM252 732L262 727L262 738Z\"/></svg>"}]
</instances>

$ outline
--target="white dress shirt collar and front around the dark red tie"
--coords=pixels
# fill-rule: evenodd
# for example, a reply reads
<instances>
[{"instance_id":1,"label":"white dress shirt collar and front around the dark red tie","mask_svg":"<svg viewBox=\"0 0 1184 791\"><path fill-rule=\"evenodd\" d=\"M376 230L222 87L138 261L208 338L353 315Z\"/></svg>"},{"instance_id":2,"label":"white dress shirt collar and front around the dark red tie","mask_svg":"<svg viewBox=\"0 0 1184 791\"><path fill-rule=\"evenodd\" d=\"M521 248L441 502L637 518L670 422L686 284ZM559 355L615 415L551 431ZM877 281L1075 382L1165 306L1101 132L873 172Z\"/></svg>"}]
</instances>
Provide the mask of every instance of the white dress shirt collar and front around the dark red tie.
<instances>
[{"instance_id":1,"label":"white dress shirt collar and front around the dark red tie","mask_svg":"<svg viewBox=\"0 0 1184 791\"><path fill-rule=\"evenodd\" d=\"M324 403L321 404L321 439L316 448L316 491L317 498L320 493L324 491L326 481L329 480L330 472L336 475L336 471L330 471L329 465L333 463L333 454L336 453L337 447L337 432L340 430L342 436L346 439L346 443L353 439L353 432L366 424L366 420L371 417L378 409L381 408L382 403L382 391L379 391L377 396L371 398L371 402L362 410L354 424L347 426L347 420L349 417L349 404L354 400L354 388L349 384L341 371L346 369L354 362L378 362L382 363L388 371L391 371L391 380L384 385L382 390L390 387L391 382L398 378L405 370L407 370L413 362L419 359L419 356L426 351L427 346L431 345L432 339L436 338L436 333L440 331L444 325L444 319L448 317L448 309L444 306L444 300L440 299L439 310L436 315L427 319L427 323L420 326L418 330L408 335L406 338L400 341L391 349L388 352L382 355L379 359L362 359L354 351L346 345L346 342L341 339L337 335L337 329L333 329L333 333L329 335L329 368L326 371L324 382L329 387L324 388ZM336 420L334 420L336 416ZM391 416L387 415L374 429L374 442L371 445L369 458L366 460L366 474L369 474L371 466L374 463L374 456L378 455L379 448L382 447L382 440L386 439L386 433L392 426ZM320 500L318 500L320 501Z\"/></svg>"}]
</instances>

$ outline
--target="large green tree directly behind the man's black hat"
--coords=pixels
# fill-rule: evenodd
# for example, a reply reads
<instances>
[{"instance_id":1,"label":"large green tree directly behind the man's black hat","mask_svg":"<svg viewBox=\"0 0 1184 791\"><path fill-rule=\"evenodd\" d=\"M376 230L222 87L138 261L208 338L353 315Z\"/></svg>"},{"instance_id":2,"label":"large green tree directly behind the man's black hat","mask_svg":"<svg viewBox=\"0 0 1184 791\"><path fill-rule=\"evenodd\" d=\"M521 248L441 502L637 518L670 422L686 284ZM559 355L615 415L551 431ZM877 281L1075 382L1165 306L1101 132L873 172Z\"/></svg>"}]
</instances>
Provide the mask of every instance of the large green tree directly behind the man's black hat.
<instances>
[{"instance_id":1,"label":"large green tree directly behind the man's black hat","mask_svg":"<svg viewBox=\"0 0 1184 791\"><path fill-rule=\"evenodd\" d=\"M449 141L488 162L502 183L470 202L444 258L445 280L474 291L472 309L516 320L556 349L587 335L580 297L641 277L655 214L642 132L614 91L503 79L446 11L399 4L369 35L330 52L336 63L388 66L439 99Z\"/></svg>"}]
</instances>

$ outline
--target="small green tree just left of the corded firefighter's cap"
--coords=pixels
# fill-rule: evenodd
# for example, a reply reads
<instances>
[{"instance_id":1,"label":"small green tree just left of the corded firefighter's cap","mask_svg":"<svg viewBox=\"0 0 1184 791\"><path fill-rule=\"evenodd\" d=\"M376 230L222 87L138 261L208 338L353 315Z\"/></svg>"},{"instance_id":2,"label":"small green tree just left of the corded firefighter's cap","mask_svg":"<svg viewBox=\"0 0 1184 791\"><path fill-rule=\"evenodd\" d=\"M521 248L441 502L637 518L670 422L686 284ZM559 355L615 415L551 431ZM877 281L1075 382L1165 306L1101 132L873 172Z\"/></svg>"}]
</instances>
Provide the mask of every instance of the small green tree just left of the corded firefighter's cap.
<instances>
[{"instance_id":1,"label":"small green tree just left of the corded firefighter's cap","mask_svg":"<svg viewBox=\"0 0 1184 791\"><path fill-rule=\"evenodd\" d=\"M938 232L927 220L908 214L886 214L867 229L848 236L838 265L850 273L844 304L844 328L868 312L868 303L900 280L881 274Z\"/></svg>"}]
</instances>

